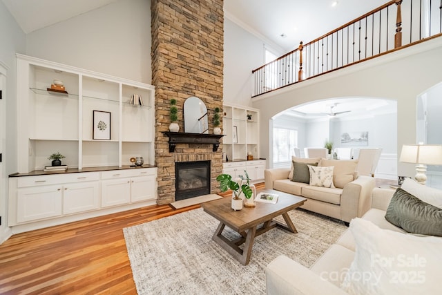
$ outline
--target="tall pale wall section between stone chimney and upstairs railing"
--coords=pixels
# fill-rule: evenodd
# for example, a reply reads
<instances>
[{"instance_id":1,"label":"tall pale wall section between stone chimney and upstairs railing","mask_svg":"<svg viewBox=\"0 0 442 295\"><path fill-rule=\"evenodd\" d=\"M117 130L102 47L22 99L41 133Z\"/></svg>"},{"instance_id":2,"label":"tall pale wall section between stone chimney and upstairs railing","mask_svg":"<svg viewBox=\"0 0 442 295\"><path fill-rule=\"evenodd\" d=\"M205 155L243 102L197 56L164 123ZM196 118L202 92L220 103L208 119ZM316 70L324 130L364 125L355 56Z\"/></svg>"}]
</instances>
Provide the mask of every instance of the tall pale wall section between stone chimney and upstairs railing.
<instances>
[{"instance_id":1,"label":"tall pale wall section between stone chimney and upstairs railing","mask_svg":"<svg viewBox=\"0 0 442 295\"><path fill-rule=\"evenodd\" d=\"M251 70L264 64L264 43L224 17L224 102L251 106Z\"/></svg>"}]
</instances>

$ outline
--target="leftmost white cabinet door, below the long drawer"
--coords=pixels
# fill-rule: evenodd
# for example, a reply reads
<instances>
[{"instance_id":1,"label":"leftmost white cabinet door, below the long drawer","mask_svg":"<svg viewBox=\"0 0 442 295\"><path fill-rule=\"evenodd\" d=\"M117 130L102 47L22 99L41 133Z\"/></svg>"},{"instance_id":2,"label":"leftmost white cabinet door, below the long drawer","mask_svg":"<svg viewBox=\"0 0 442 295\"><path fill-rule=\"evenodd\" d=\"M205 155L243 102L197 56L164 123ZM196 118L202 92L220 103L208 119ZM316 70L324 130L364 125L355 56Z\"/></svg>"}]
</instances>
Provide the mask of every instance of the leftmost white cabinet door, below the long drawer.
<instances>
[{"instance_id":1,"label":"leftmost white cabinet door, below the long drawer","mask_svg":"<svg viewBox=\"0 0 442 295\"><path fill-rule=\"evenodd\" d=\"M61 216L61 185L17 190L17 222Z\"/></svg>"}]
</instances>

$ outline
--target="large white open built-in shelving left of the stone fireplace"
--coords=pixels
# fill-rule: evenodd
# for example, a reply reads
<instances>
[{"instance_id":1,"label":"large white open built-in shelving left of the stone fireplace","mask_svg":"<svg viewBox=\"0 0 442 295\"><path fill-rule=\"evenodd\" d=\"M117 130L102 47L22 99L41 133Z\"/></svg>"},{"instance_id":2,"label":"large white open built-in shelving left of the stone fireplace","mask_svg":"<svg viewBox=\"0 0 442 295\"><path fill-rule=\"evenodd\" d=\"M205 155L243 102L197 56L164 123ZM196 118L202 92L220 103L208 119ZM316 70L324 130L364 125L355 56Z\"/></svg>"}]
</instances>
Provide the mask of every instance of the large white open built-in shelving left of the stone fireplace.
<instances>
[{"instance_id":1,"label":"large white open built-in shelving left of the stone fireplace","mask_svg":"<svg viewBox=\"0 0 442 295\"><path fill-rule=\"evenodd\" d=\"M154 96L148 84L17 55L19 173L44 169L59 151L63 164L83 169L154 163ZM47 91L54 79L68 94ZM133 94L143 105L130 104ZM111 139L93 139L93 111L111 113Z\"/></svg>"}]
</instances>

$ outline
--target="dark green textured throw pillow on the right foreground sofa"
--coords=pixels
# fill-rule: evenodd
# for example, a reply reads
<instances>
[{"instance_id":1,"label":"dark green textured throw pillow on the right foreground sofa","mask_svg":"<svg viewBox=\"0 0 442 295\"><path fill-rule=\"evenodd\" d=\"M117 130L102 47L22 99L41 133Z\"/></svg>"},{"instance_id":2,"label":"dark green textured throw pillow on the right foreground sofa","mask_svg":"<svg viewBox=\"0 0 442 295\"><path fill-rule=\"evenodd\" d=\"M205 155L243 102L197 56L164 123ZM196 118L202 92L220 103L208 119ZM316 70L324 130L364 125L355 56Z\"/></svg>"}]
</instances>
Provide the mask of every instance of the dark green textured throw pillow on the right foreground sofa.
<instances>
[{"instance_id":1,"label":"dark green textured throw pillow on the right foreground sofa","mask_svg":"<svg viewBox=\"0 0 442 295\"><path fill-rule=\"evenodd\" d=\"M442 236L442 209L396 189L385 219L412 234Z\"/></svg>"}]
</instances>

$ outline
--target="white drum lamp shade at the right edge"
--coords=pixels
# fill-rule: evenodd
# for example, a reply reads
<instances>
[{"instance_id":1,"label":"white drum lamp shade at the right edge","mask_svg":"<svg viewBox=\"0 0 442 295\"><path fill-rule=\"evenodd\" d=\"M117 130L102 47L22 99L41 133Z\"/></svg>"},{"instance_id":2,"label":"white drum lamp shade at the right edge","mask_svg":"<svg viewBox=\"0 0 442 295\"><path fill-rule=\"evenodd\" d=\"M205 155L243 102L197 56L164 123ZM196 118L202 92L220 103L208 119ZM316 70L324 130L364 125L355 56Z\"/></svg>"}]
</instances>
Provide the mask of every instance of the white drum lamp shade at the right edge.
<instances>
[{"instance_id":1,"label":"white drum lamp shade at the right edge","mask_svg":"<svg viewBox=\"0 0 442 295\"><path fill-rule=\"evenodd\" d=\"M440 144L403 144L400 162L442 165L442 145Z\"/></svg>"}]
</instances>

